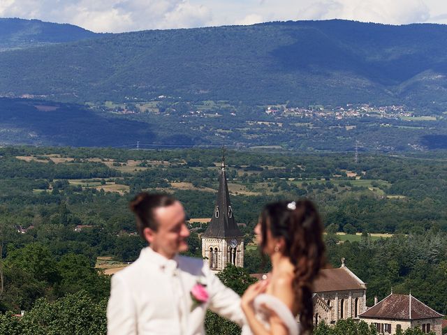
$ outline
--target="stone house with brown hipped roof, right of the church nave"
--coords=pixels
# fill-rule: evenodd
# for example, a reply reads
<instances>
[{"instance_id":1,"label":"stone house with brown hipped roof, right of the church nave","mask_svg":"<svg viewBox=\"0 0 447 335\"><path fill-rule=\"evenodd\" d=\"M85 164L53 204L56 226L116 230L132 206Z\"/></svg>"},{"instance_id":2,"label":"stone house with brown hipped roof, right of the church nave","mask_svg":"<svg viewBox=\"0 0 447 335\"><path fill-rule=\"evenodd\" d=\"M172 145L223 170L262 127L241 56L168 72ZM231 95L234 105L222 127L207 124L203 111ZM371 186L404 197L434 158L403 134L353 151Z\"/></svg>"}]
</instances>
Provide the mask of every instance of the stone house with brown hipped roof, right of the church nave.
<instances>
[{"instance_id":1,"label":"stone house with brown hipped roof, right of the church nave","mask_svg":"<svg viewBox=\"0 0 447 335\"><path fill-rule=\"evenodd\" d=\"M434 311L411 295L391 293L359 315L360 320L375 325L379 334L395 334L397 329L419 327L424 334L434 332L442 335L444 315Z\"/></svg>"}]
</instances>

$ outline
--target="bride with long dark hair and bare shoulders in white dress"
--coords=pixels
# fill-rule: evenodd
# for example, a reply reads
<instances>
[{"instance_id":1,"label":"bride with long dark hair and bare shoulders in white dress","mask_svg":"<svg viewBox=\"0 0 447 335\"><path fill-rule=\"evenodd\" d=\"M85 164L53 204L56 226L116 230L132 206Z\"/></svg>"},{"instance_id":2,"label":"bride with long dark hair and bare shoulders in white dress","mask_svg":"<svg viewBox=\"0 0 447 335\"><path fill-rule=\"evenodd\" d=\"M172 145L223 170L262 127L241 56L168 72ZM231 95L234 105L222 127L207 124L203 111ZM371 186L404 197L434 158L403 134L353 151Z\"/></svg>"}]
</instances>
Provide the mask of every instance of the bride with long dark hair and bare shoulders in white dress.
<instances>
[{"instance_id":1,"label":"bride with long dark hair and bare shoulders in white dress","mask_svg":"<svg viewBox=\"0 0 447 335\"><path fill-rule=\"evenodd\" d=\"M272 261L272 273L242 297L249 325L242 334L310 334L312 283L325 264L323 226L316 207L309 200L267 204L254 232L261 252Z\"/></svg>"}]
</instances>

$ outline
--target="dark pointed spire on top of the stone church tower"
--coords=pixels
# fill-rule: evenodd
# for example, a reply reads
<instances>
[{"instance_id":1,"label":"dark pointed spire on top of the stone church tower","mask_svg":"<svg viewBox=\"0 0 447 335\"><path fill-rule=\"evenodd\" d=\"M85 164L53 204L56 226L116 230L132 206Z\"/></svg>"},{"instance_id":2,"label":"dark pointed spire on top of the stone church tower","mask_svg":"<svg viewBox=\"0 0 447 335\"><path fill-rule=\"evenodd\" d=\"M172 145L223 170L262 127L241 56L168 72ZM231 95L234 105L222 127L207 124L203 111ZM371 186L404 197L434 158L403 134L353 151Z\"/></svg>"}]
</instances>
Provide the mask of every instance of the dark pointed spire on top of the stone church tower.
<instances>
[{"instance_id":1,"label":"dark pointed spire on top of the stone church tower","mask_svg":"<svg viewBox=\"0 0 447 335\"><path fill-rule=\"evenodd\" d=\"M214 206L214 213L203 237L241 237L244 236L237 227L233 208L231 207L230 194L225 173L225 149L223 149L221 176L219 178L219 191Z\"/></svg>"}]
</instances>

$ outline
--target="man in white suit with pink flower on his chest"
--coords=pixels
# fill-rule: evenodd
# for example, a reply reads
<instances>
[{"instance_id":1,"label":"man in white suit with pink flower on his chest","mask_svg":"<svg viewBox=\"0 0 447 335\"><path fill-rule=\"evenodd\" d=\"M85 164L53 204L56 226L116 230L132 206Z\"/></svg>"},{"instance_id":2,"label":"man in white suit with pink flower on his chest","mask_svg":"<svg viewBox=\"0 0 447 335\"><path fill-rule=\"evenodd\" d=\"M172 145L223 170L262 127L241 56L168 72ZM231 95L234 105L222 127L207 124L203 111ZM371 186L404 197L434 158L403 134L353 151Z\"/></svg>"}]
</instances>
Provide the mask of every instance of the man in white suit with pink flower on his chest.
<instances>
[{"instance_id":1,"label":"man in white suit with pink flower on his chest","mask_svg":"<svg viewBox=\"0 0 447 335\"><path fill-rule=\"evenodd\" d=\"M108 335L205 334L207 308L242 325L240 297L203 260L178 255L188 249L189 237L182 204L140 193L131 209L149 246L112 276Z\"/></svg>"}]
</instances>

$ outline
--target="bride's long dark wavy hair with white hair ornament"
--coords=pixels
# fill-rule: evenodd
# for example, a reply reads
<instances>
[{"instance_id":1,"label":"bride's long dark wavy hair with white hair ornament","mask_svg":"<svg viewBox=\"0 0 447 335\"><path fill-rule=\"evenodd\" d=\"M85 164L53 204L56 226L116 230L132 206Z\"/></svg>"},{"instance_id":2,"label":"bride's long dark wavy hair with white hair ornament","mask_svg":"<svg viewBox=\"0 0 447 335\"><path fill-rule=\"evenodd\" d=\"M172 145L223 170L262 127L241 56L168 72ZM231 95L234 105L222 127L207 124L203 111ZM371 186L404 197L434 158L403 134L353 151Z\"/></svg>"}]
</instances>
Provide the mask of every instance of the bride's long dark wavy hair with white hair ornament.
<instances>
[{"instance_id":1,"label":"bride's long dark wavy hair with white hair ornament","mask_svg":"<svg viewBox=\"0 0 447 335\"><path fill-rule=\"evenodd\" d=\"M268 230L272 237L282 237L286 242L282 253L295 266L294 308L300 313L302 331L312 332L312 283L325 265L323 226L318 211L309 200L273 202L263 209L261 228L261 250L265 250L267 246Z\"/></svg>"}]
</instances>

